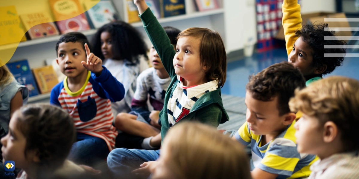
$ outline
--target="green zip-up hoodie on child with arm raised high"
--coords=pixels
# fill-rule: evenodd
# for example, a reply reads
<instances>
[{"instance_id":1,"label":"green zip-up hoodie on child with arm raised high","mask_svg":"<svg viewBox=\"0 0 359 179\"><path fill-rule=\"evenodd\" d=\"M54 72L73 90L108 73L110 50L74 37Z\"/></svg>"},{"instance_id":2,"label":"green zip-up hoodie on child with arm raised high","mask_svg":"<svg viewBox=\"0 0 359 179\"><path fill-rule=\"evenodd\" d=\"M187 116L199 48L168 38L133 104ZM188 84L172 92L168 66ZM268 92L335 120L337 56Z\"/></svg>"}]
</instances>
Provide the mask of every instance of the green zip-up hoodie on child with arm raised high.
<instances>
[{"instance_id":1,"label":"green zip-up hoodie on child with arm raised high","mask_svg":"<svg viewBox=\"0 0 359 179\"><path fill-rule=\"evenodd\" d=\"M147 35L153 44L153 47L156 49L159 57L162 60L164 68L172 79L164 97L163 109L159 113L159 118L162 124L161 137L163 140L169 130L167 114L168 100L173 93L173 90L176 88L177 83L180 82L177 79L173 67L173 58L176 54L176 51L174 50L166 32L158 23L150 8L146 9L146 11L144 11L144 13L139 16L143 22L143 26ZM203 96L201 96L192 106L190 113L188 113L188 115L184 116L174 125L177 125L182 121L199 121L201 123L218 127L219 124L222 124L228 120L229 117L227 112L223 108L221 88L217 88L215 91L205 93Z\"/></svg>"}]
</instances>

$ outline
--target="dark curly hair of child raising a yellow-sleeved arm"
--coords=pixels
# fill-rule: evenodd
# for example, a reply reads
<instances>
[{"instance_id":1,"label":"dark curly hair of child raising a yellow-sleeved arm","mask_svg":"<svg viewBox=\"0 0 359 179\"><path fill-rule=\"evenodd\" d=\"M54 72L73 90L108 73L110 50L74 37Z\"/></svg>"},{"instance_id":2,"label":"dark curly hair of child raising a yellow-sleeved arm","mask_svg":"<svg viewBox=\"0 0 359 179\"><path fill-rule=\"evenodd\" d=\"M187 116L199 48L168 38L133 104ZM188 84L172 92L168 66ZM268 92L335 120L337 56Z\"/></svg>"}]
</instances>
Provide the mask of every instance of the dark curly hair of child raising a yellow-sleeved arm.
<instances>
[{"instance_id":1,"label":"dark curly hair of child raising a yellow-sleeved arm","mask_svg":"<svg viewBox=\"0 0 359 179\"><path fill-rule=\"evenodd\" d=\"M313 67L327 66L322 74L328 74L339 67L344 57L324 57L326 53L346 53L345 48L324 48L324 45L346 45L344 40L325 40L324 37L335 36L335 31L326 31L328 24L304 25L302 29L296 30L295 35L302 37L303 42L307 43L313 53Z\"/></svg>"}]
</instances>

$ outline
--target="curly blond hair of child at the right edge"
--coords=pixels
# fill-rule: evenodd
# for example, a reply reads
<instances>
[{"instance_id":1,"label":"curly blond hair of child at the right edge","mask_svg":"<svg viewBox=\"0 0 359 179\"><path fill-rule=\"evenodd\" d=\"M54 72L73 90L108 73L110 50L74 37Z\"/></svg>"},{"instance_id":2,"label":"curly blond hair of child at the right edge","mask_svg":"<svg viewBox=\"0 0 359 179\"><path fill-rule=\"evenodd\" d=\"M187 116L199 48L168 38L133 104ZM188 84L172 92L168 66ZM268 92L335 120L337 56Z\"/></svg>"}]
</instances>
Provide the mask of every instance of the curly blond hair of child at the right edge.
<instances>
[{"instance_id":1,"label":"curly blond hair of child at the right edge","mask_svg":"<svg viewBox=\"0 0 359 179\"><path fill-rule=\"evenodd\" d=\"M324 125L332 121L341 131L347 151L359 149L359 81L333 76L313 82L290 99L292 111L314 116Z\"/></svg>"}]
</instances>

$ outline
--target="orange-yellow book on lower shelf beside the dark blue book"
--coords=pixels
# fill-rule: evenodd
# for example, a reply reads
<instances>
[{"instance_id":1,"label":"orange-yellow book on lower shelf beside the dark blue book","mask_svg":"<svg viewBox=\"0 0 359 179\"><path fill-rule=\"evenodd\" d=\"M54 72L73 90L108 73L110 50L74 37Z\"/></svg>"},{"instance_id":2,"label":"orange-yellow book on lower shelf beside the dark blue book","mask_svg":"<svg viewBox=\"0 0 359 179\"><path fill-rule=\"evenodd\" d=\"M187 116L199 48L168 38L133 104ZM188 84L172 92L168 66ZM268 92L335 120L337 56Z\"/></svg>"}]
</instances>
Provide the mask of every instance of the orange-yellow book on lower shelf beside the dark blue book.
<instances>
[{"instance_id":1,"label":"orange-yellow book on lower shelf beside the dark blue book","mask_svg":"<svg viewBox=\"0 0 359 179\"><path fill-rule=\"evenodd\" d=\"M56 72L53 70L52 65L34 68L34 77L39 87L40 93L51 92L51 89L59 83L57 80Z\"/></svg>"}]
</instances>

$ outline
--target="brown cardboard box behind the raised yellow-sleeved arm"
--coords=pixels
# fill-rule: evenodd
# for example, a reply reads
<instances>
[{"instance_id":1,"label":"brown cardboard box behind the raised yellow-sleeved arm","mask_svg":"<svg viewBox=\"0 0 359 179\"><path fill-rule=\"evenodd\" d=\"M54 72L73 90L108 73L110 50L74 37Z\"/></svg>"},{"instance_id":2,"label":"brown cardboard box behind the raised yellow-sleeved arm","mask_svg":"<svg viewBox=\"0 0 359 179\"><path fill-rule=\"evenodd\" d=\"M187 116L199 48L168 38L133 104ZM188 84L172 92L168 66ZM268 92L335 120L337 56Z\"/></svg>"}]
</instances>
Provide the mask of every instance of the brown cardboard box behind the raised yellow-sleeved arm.
<instances>
[{"instance_id":1,"label":"brown cardboard box behind the raised yellow-sleeved arm","mask_svg":"<svg viewBox=\"0 0 359 179\"><path fill-rule=\"evenodd\" d=\"M350 27L348 21L325 22L324 18L346 18L346 16L344 13L326 13L326 12L303 14L302 15L302 20L303 20L302 25L313 24L313 23L314 24L327 23L330 28ZM337 36L351 36L351 31L336 31L335 34ZM285 40L283 26L279 27L276 39Z\"/></svg>"}]
</instances>

